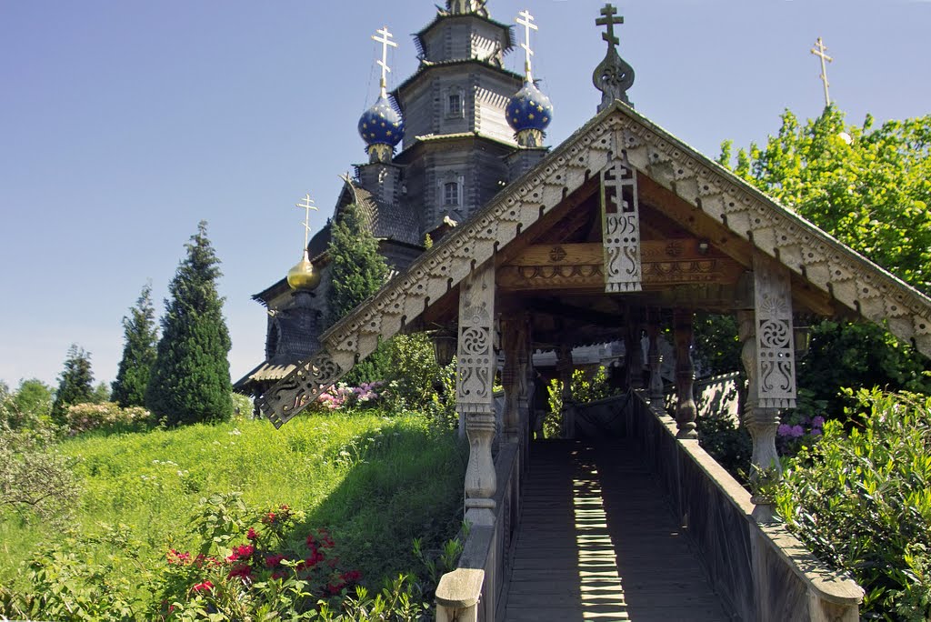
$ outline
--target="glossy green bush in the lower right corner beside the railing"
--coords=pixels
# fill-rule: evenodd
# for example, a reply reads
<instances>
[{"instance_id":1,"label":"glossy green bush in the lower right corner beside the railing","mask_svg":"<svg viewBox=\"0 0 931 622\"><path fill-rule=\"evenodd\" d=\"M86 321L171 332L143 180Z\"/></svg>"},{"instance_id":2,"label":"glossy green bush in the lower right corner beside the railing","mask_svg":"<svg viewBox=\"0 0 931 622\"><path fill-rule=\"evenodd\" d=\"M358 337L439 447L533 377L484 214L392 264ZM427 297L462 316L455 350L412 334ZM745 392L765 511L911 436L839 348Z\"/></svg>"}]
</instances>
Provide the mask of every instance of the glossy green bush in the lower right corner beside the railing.
<instances>
[{"instance_id":1,"label":"glossy green bush in the lower right corner beside the railing","mask_svg":"<svg viewBox=\"0 0 931 622\"><path fill-rule=\"evenodd\" d=\"M866 590L867 619L931 615L931 398L859 390L789 461L777 509L813 552Z\"/></svg>"}]
</instances>

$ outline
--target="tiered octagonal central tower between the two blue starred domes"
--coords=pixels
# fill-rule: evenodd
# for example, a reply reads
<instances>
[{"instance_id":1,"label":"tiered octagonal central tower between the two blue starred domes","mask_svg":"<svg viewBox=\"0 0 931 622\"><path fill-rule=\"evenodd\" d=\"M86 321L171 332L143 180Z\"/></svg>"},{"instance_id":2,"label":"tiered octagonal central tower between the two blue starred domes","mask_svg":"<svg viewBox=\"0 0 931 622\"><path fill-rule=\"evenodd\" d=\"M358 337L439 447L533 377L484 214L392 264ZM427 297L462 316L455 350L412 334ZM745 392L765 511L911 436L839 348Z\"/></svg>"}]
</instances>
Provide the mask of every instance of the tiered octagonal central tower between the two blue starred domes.
<instances>
[{"instance_id":1,"label":"tiered octagonal central tower between the two blue starred domes","mask_svg":"<svg viewBox=\"0 0 931 622\"><path fill-rule=\"evenodd\" d=\"M504 69L511 31L484 2L449 0L414 43L420 66L393 93L406 122L395 162L423 237L445 217L466 220L508 181L503 158L517 142L506 106L522 77Z\"/></svg>"}]
</instances>

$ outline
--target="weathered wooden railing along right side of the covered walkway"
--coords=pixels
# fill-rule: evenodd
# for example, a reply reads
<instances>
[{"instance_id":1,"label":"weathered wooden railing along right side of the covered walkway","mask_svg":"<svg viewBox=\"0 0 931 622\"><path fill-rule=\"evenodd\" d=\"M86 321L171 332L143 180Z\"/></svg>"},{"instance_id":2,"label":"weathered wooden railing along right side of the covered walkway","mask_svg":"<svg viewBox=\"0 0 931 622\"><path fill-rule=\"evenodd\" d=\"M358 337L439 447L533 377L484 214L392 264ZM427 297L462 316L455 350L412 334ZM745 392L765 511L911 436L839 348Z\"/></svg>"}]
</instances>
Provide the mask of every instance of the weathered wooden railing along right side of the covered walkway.
<instances>
[{"instance_id":1,"label":"weathered wooden railing along right side of the covered walkway","mask_svg":"<svg viewBox=\"0 0 931 622\"><path fill-rule=\"evenodd\" d=\"M674 511L699 548L715 590L743 620L855 622L863 589L816 558L779 523L752 517L750 494L697 440L641 392L628 401L638 439Z\"/></svg>"}]
</instances>

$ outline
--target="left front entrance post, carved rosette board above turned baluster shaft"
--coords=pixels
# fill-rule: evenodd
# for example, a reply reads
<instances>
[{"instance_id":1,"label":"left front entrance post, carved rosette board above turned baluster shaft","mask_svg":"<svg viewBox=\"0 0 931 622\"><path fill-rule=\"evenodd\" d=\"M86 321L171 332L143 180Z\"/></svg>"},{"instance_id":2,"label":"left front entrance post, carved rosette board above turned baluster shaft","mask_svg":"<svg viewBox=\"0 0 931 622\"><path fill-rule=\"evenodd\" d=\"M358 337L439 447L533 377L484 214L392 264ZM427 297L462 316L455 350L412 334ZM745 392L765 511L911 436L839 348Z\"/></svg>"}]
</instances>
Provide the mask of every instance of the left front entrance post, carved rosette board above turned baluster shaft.
<instances>
[{"instance_id":1,"label":"left front entrance post, carved rosette board above turned baluster shaft","mask_svg":"<svg viewBox=\"0 0 931 622\"><path fill-rule=\"evenodd\" d=\"M459 286L456 410L466 419L466 521L494 523L497 481L492 462L494 401L494 260L472 271Z\"/></svg>"}]
</instances>

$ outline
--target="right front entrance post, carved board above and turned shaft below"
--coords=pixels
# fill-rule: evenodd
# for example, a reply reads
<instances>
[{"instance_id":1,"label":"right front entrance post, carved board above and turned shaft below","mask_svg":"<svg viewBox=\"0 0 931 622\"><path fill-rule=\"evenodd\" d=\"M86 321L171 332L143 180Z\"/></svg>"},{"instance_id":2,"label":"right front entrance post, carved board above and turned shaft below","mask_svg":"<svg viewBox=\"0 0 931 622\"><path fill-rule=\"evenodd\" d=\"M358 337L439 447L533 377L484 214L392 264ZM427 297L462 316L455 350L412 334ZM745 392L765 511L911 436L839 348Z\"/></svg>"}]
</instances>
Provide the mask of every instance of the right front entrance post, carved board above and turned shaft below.
<instances>
[{"instance_id":1,"label":"right front entrance post, carved board above and turned shaft below","mask_svg":"<svg viewBox=\"0 0 931 622\"><path fill-rule=\"evenodd\" d=\"M752 309L737 313L741 360L747 372L744 424L753 440L751 482L758 520L771 520L772 498L760 491L782 474L776 453L779 410L795 407L795 352L792 343L792 298L789 271L757 253L753 256Z\"/></svg>"}]
</instances>

